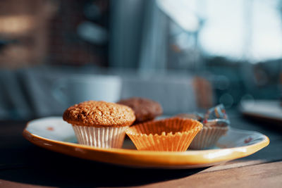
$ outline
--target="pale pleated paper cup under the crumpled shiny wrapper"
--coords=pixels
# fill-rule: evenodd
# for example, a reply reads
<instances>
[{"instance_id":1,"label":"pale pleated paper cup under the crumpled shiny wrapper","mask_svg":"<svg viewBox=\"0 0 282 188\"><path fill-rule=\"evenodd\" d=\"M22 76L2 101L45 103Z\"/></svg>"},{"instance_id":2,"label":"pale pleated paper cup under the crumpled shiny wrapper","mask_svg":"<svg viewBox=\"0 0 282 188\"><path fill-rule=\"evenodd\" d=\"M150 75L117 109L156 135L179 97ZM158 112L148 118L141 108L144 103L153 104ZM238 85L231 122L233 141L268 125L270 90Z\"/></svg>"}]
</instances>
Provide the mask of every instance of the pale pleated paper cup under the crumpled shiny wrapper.
<instances>
[{"instance_id":1,"label":"pale pleated paper cup under the crumpled shiny wrapper","mask_svg":"<svg viewBox=\"0 0 282 188\"><path fill-rule=\"evenodd\" d=\"M190 144L190 149L207 149L215 146L227 131L228 127L203 127Z\"/></svg>"}]
</instances>

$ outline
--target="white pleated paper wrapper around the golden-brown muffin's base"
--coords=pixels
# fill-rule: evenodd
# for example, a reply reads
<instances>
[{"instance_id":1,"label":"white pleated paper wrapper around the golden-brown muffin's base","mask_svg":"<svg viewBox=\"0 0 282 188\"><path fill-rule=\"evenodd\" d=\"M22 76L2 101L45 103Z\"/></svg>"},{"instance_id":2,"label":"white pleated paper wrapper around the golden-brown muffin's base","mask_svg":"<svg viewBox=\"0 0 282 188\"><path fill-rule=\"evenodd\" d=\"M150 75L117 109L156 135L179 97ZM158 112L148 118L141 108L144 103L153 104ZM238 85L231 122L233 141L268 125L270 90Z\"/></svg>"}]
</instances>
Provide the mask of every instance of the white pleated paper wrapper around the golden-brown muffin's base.
<instances>
[{"instance_id":1,"label":"white pleated paper wrapper around the golden-brown muffin's base","mask_svg":"<svg viewBox=\"0 0 282 188\"><path fill-rule=\"evenodd\" d=\"M73 125L79 144L100 148L121 148L125 137L125 127L89 127Z\"/></svg>"}]
</instances>

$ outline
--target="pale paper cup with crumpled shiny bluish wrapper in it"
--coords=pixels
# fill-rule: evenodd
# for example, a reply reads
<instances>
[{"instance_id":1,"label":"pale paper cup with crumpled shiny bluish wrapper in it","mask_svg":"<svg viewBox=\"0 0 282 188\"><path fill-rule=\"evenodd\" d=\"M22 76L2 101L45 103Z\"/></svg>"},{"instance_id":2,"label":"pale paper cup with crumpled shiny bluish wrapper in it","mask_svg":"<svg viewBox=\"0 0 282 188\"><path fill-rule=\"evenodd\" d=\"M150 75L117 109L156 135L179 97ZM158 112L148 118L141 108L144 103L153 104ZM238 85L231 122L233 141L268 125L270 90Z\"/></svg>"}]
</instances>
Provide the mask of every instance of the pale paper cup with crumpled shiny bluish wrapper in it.
<instances>
[{"instance_id":1,"label":"pale paper cup with crumpled shiny bluish wrapper in it","mask_svg":"<svg viewBox=\"0 0 282 188\"><path fill-rule=\"evenodd\" d=\"M179 114L177 117L184 119L194 119L202 122L202 130L197 134L190 144L190 149L208 149L216 145L229 129L229 120L223 105L210 108L205 115Z\"/></svg>"}]
</instances>

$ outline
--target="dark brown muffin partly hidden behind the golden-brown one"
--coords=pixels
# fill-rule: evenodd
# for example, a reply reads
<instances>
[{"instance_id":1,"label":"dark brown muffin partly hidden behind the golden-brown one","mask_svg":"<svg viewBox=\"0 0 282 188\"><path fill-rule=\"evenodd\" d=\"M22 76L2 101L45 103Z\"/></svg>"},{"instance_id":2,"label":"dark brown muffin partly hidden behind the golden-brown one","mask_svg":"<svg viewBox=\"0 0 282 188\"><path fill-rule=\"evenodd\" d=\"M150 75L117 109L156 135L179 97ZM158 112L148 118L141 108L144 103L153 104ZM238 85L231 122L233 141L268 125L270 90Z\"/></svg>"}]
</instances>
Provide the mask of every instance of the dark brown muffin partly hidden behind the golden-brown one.
<instances>
[{"instance_id":1,"label":"dark brown muffin partly hidden behind the golden-brown one","mask_svg":"<svg viewBox=\"0 0 282 188\"><path fill-rule=\"evenodd\" d=\"M141 97L123 99L121 101L118 101L118 104L123 104L133 109L136 117L134 124L153 120L163 113L163 109L158 102Z\"/></svg>"}]
</instances>

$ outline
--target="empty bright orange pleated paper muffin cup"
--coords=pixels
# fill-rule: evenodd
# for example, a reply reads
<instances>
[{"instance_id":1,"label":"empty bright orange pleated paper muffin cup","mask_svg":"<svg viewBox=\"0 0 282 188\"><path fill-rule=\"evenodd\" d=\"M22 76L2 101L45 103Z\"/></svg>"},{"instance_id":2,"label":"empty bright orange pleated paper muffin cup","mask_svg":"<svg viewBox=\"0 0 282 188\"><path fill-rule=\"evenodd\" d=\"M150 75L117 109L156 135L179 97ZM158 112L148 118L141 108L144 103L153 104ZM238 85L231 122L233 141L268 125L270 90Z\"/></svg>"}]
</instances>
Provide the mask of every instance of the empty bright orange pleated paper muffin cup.
<instances>
[{"instance_id":1,"label":"empty bright orange pleated paper muffin cup","mask_svg":"<svg viewBox=\"0 0 282 188\"><path fill-rule=\"evenodd\" d=\"M186 151L201 129L197 120L166 118L133 125L125 132L138 150Z\"/></svg>"}]
</instances>

